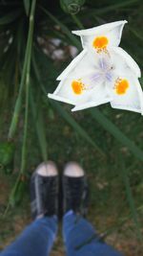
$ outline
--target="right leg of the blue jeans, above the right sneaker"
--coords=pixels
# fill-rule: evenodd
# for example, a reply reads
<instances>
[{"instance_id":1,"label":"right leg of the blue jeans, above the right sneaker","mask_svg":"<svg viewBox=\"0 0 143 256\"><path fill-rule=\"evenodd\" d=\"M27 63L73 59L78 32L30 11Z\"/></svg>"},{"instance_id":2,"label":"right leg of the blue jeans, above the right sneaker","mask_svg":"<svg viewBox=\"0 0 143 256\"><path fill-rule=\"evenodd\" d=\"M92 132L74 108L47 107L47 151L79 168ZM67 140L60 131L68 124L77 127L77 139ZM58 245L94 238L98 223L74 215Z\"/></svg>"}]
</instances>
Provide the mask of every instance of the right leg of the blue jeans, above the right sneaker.
<instances>
[{"instance_id":1,"label":"right leg of the blue jeans, above the right sneaker","mask_svg":"<svg viewBox=\"0 0 143 256\"><path fill-rule=\"evenodd\" d=\"M112 246L101 242L92 224L84 218L70 211L63 221L68 256L122 256Z\"/></svg>"}]
</instances>

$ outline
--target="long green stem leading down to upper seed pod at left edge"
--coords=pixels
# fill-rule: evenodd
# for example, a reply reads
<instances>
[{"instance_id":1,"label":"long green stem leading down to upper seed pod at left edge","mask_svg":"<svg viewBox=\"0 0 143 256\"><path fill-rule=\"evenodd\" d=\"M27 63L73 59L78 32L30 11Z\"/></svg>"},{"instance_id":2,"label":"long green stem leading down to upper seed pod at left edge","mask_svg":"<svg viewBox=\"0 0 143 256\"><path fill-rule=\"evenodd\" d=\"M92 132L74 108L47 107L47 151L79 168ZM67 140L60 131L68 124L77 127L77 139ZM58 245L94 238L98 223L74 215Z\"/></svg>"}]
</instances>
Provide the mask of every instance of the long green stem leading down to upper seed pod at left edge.
<instances>
[{"instance_id":1,"label":"long green stem leading down to upper seed pod at left edge","mask_svg":"<svg viewBox=\"0 0 143 256\"><path fill-rule=\"evenodd\" d=\"M36 0L33 0L31 3L31 14L30 14L30 26L29 26L29 34L26 46L26 54L24 59L22 77L19 86L19 93L16 100L16 104L14 106L14 112L12 115L10 129L8 134L8 139L11 139L14 136L14 133L17 128L19 113L22 105L22 94L23 88L26 80L30 80L30 66L31 66L31 45L32 45L32 35L33 35L33 20L34 20L34 11L35 11Z\"/></svg>"}]
</instances>

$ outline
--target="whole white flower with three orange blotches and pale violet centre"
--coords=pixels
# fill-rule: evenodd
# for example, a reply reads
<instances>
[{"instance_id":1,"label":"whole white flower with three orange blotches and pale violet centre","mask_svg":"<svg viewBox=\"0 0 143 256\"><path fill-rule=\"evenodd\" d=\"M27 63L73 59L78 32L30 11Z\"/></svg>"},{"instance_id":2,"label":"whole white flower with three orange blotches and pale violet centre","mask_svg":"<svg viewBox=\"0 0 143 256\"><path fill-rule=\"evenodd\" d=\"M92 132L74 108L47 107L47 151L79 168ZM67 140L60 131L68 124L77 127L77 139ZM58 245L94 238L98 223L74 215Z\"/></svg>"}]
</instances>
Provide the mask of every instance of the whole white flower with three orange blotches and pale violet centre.
<instances>
[{"instance_id":1,"label":"whole white flower with three orange blotches and pale violet centre","mask_svg":"<svg viewBox=\"0 0 143 256\"><path fill-rule=\"evenodd\" d=\"M49 97L75 105L72 111L110 102L114 108L143 113L143 92L137 79L140 69L117 47L124 24L118 21L76 32L84 50L57 78L60 83ZM94 47L95 38L98 48ZM103 47L105 38L109 44Z\"/></svg>"}]
</instances>

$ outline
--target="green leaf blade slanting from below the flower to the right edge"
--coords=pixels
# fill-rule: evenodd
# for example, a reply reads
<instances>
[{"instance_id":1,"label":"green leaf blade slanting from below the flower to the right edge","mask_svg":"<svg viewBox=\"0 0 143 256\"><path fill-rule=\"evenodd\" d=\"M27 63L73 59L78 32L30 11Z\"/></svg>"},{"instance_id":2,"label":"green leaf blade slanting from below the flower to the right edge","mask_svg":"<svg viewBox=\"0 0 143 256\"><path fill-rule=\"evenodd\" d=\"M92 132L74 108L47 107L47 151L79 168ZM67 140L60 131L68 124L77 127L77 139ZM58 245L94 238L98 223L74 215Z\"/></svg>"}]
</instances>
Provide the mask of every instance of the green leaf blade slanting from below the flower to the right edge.
<instances>
[{"instance_id":1,"label":"green leaf blade slanting from below the flower to the right edge","mask_svg":"<svg viewBox=\"0 0 143 256\"><path fill-rule=\"evenodd\" d=\"M143 151L141 151L119 128L112 124L112 122L105 117L97 107L90 109L90 113L92 118L95 119L103 128L108 130L117 141L133 152L135 157L143 161Z\"/></svg>"}]
</instances>

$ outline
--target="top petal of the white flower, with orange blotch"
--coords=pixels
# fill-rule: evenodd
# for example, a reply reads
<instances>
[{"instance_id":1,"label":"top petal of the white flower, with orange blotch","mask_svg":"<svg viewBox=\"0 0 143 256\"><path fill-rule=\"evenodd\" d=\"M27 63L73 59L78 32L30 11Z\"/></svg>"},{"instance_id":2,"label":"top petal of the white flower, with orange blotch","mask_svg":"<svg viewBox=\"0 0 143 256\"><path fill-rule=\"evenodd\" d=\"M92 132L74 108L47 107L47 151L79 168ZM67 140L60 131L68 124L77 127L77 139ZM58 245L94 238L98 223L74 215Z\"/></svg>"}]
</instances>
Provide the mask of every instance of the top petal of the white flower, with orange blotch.
<instances>
[{"instance_id":1,"label":"top petal of the white flower, with orange blotch","mask_svg":"<svg viewBox=\"0 0 143 256\"><path fill-rule=\"evenodd\" d=\"M126 20L115 21L97 26L88 30L72 31L74 35L80 35L83 48L96 48L102 50L108 46L118 46Z\"/></svg>"}]
</instances>

